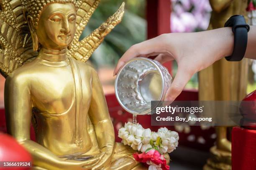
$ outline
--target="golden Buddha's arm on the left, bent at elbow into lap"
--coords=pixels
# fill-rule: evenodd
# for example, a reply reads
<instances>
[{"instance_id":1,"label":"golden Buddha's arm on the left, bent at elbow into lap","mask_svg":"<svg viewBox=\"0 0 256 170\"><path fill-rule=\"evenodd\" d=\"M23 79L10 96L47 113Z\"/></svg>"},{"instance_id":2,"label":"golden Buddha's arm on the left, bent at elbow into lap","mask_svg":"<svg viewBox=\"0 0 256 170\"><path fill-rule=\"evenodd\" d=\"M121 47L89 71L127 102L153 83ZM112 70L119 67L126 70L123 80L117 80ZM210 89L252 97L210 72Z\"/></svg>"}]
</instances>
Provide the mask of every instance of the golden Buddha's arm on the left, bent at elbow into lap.
<instances>
[{"instance_id":1,"label":"golden Buddha's arm on the left, bent at elbow into lap","mask_svg":"<svg viewBox=\"0 0 256 170\"><path fill-rule=\"evenodd\" d=\"M8 77L5 81L5 114L8 133L31 153L33 164L46 169L72 169L79 161L64 161L30 140L31 94L28 81ZM80 165L81 166L81 165Z\"/></svg>"}]
</instances>

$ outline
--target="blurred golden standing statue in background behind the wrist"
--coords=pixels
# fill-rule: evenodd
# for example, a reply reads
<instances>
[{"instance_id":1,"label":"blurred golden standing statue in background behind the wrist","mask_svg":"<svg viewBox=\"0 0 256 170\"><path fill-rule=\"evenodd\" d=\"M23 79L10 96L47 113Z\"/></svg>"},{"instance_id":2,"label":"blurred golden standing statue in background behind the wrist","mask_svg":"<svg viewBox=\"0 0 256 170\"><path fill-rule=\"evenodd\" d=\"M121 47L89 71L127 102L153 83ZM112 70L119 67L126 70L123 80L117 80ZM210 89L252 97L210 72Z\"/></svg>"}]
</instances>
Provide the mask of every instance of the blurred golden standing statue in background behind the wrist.
<instances>
[{"instance_id":1,"label":"blurred golden standing statue in background behind the wrist","mask_svg":"<svg viewBox=\"0 0 256 170\"><path fill-rule=\"evenodd\" d=\"M210 5L212 15L208 30L222 28L232 15L240 14L247 18L247 0L210 0ZM200 71L199 99L239 101L246 96L247 75L248 59L246 58L239 62L229 62L225 58L216 61L212 66ZM221 113L216 116L221 116ZM211 148L212 157L207 161L208 166L205 170L231 169L231 142L227 137L228 127L217 126L215 129L216 147Z\"/></svg>"}]
</instances>

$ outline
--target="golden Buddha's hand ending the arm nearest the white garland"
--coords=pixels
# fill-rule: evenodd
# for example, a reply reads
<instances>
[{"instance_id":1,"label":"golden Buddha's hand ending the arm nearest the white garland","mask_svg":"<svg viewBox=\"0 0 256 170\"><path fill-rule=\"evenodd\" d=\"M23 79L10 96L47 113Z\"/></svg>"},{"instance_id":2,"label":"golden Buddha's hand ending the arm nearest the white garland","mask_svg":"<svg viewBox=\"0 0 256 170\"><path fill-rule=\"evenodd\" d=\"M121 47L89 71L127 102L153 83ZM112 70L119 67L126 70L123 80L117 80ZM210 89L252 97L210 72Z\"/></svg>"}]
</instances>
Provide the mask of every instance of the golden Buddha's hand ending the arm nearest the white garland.
<instances>
[{"instance_id":1,"label":"golden Buddha's hand ending the arm nearest the white garland","mask_svg":"<svg viewBox=\"0 0 256 170\"><path fill-rule=\"evenodd\" d=\"M96 166L92 170L100 170L104 166L109 165L113 155L113 146L105 146L101 149L101 152L105 152L105 155L100 159Z\"/></svg>"}]
</instances>

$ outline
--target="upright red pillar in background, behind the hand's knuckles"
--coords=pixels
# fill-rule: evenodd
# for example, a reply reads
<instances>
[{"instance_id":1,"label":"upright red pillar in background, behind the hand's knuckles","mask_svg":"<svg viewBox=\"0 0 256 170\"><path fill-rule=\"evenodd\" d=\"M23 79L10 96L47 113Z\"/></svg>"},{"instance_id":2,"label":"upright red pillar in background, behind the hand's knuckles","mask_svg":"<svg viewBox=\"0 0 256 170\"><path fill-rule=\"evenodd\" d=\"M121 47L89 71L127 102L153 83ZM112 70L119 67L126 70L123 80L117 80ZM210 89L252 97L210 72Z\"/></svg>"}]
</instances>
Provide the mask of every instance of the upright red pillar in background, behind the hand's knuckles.
<instances>
[{"instance_id":1,"label":"upright red pillar in background, behind the hand's knuckles","mask_svg":"<svg viewBox=\"0 0 256 170\"><path fill-rule=\"evenodd\" d=\"M147 0L147 22L148 22L148 39L159 36L163 33L170 33L170 0ZM164 66L172 71L172 63L167 62Z\"/></svg>"}]
</instances>

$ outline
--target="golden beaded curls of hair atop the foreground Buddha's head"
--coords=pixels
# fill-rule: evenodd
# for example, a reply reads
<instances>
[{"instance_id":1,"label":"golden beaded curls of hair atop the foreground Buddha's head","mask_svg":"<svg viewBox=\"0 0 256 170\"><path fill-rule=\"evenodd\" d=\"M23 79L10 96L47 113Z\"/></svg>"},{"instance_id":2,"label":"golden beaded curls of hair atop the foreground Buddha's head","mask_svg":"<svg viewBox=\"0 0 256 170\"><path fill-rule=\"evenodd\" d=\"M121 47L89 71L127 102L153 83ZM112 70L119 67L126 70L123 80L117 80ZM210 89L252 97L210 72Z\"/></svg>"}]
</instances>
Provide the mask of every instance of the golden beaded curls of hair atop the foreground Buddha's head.
<instances>
[{"instance_id":1,"label":"golden beaded curls of hair atop the foreground Buddha's head","mask_svg":"<svg viewBox=\"0 0 256 170\"><path fill-rule=\"evenodd\" d=\"M35 28L38 26L38 21L43 9L51 3L73 3L77 8L77 0L23 0L26 1L27 15L32 18L32 23Z\"/></svg>"}]
</instances>

